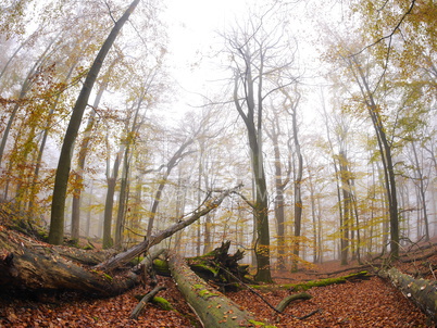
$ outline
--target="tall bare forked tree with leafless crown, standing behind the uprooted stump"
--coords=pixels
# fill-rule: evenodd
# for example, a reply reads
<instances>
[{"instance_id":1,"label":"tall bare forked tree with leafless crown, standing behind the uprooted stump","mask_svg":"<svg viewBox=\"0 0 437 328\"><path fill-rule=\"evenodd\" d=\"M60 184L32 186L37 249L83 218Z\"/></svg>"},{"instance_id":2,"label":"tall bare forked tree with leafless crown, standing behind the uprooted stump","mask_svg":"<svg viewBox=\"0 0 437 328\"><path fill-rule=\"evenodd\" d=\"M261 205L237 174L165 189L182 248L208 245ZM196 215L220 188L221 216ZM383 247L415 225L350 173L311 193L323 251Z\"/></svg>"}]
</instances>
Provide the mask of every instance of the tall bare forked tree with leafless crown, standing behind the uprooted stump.
<instances>
[{"instance_id":1,"label":"tall bare forked tree with leafless crown, standing behind the uprooted stump","mask_svg":"<svg viewBox=\"0 0 437 328\"><path fill-rule=\"evenodd\" d=\"M266 16L278 20L277 25L267 27L264 24ZM233 102L244 122L249 141L254 181L254 201L251 205L257 231L255 279L259 281L272 280L269 192L263 159L265 100L273 97L273 93L282 87L294 83L294 79L280 78L294 62L292 56L289 56L289 40L278 33L283 31L283 22L279 15L275 15L275 5L273 5L263 15L252 14L248 21L223 36L234 75ZM277 86L278 80L284 83Z\"/></svg>"}]
</instances>

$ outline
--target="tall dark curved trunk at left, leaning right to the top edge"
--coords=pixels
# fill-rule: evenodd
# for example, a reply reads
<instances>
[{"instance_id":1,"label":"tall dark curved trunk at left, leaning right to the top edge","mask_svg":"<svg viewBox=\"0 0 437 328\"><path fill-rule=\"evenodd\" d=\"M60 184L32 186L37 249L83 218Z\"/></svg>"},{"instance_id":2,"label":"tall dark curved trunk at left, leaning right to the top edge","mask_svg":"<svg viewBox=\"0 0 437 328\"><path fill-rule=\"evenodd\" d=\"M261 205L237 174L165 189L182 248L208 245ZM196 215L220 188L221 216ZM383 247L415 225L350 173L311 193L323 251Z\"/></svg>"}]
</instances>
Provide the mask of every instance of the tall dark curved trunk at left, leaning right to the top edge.
<instances>
[{"instance_id":1,"label":"tall dark curved trunk at left, leaning right to the top edge","mask_svg":"<svg viewBox=\"0 0 437 328\"><path fill-rule=\"evenodd\" d=\"M99 75L103 61L108 52L110 51L113 42L115 41L116 36L130 16L132 12L137 7L138 2L139 0L134 0L130 3L129 8L125 11L123 16L115 23L103 46L100 48L100 51L97 54L96 60L93 61L91 68L87 74L84 86L74 105L72 117L70 118L70 123L65 131L64 141L62 143L61 154L58 162L57 176L54 178L49 232L49 242L52 244L62 243L64 237L65 198L68 185L70 169L72 165L72 153L74 149L74 142L80 127L84 111L88 104L89 96L91 93L97 76Z\"/></svg>"}]
</instances>

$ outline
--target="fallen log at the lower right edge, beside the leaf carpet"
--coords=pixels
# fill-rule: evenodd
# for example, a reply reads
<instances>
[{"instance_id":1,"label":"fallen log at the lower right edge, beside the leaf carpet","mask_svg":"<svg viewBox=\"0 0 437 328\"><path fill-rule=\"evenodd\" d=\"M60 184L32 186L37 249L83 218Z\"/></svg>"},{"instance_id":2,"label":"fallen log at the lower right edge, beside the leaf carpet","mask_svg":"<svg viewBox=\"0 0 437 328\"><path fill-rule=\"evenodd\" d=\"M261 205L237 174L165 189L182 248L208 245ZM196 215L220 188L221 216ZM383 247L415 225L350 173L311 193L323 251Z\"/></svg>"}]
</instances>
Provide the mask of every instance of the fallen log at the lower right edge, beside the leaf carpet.
<instances>
[{"instance_id":1,"label":"fallen log at the lower right edge, beside the leaf carpet","mask_svg":"<svg viewBox=\"0 0 437 328\"><path fill-rule=\"evenodd\" d=\"M409 275L402 274L396 267L379 272L378 275L390 279L405 298L415 303L422 312L437 324L437 281L414 279Z\"/></svg>"}]
</instances>

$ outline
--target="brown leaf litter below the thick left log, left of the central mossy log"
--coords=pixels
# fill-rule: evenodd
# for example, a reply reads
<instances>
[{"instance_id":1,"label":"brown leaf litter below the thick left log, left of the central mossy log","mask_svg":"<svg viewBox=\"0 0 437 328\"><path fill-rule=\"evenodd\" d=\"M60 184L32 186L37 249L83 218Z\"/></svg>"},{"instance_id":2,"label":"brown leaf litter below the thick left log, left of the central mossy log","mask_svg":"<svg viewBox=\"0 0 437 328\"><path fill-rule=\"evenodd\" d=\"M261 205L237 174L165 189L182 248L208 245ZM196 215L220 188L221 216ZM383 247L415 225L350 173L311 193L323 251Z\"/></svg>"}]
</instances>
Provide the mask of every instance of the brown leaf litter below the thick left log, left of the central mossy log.
<instances>
[{"instance_id":1,"label":"brown leaf litter below the thick left log, left of the central mossy log","mask_svg":"<svg viewBox=\"0 0 437 328\"><path fill-rule=\"evenodd\" d=\"M175 311L148 304L138 320L129 319L137 294L149 289L137 287L109 299L87 299L74 293L20 295L0 294L0 327L196 327L196 317L171 278L159 277L167 289L158 295Z\"/></svg>"}]
</instances>

